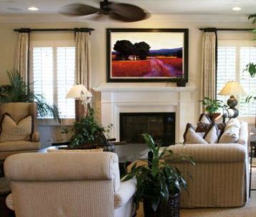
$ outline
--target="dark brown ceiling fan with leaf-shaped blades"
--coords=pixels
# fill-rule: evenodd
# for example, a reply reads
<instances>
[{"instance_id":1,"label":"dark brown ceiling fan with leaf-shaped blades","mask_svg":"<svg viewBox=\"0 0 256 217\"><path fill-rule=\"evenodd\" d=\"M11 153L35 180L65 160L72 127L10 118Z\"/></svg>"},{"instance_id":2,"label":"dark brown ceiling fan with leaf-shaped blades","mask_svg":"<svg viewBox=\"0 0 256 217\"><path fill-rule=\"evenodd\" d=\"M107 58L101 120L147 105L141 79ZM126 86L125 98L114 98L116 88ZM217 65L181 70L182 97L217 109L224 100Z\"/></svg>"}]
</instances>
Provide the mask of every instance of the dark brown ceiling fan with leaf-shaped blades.
<instances>
[{"instance_id":1,"label":"dark brown ceiling fan with leaf-shaped blades","mask_svg":"<svg viewBox=\"0 0 256 217\"><path fill-rule=\"evenodd\" d=\"M111 19L123 22L141 21L149 17L148 12L138 6L108 0L100 1L100 8L80 3L68 4L62 8L60 13L67 16L97 14L95 19L99 19L101 16L110 16Z\"/></svg>"}]
</instances>

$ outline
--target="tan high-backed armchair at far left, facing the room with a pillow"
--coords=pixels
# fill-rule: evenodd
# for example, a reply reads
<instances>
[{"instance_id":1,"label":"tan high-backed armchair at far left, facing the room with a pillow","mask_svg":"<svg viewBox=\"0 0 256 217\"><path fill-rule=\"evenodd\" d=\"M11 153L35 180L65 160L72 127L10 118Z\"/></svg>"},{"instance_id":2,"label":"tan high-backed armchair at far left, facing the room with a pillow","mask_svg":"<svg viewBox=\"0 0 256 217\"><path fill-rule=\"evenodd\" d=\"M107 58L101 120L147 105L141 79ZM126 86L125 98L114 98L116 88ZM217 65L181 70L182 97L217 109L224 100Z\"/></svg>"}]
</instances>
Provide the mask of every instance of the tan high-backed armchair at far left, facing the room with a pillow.
<instances>
[{"instance_id":1,"label":"tan high-backed armchair at far left, facing the room with a pillow","mask_svg":"<svg viewBox=\"0 0 256 217\"><path fill-rule=\"evenodd\" d=\"M8 116L5 128L2 126L4 116ZM31 118L30 118L31 116ZM23 121L25 118L27 120ZM36 152L40 148L39 133L37 132L37 104L35 103L8 103L0 104L0 160L4 160L7 156L21 152ZM12 121L12 122L11 122ZM24 125L26 121L30 121L27 129L30 132L27 138L22 137L22 133L26 131ZM24 124L23 126L21 126ZM30 124L30 125L29 125ZM26 127L26 126L25 126Z\"/></svg>"}]
</instances>

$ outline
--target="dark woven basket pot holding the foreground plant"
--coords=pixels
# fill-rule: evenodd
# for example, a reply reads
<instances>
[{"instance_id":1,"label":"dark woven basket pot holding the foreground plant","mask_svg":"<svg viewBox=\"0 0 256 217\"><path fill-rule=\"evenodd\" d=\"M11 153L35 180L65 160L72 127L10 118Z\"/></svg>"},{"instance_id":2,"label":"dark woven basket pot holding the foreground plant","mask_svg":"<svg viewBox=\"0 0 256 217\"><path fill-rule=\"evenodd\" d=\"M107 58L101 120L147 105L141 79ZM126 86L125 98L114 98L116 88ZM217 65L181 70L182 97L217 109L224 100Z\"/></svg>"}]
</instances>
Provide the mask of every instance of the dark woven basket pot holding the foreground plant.
<instances>
[{"instance_id":1,"label":"dark woven basket pot holding the foreground plant","mask_svg":"<svg viewBox=\"0 0 256 217\"><path fill-rule=\"evenodd\" d=\"M167 203L160 203L157 210L153 211L150 201L143 200L144 217L179 217L180 193L169 195Z\"/></svg>"}]
</instances>

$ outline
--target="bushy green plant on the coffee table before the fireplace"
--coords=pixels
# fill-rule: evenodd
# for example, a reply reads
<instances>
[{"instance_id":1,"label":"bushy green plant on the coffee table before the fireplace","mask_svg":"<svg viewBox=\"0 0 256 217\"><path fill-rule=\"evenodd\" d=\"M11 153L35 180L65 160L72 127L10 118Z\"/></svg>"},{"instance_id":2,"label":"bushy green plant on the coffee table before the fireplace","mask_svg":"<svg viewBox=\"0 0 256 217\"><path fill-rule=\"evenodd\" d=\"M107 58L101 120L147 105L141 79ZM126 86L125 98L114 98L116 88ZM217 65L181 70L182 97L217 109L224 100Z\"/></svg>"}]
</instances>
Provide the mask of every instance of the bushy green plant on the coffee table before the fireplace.
<instances>
[{"instance_id":1,"label":"bushy green plant on the coffee table before the fireplace","mask_svg":"<svg viewBox=\"0 0 256 217\"><path fill-rule=\"evenodd\" d=\"M104 127L98 124L94 117L94 110L88 104L88 115L80 118L80 121L75 121L71 130L64 127L62 133L72 132L69 143L71 148L77 146L91 148L95 145L105 145L107 143L104 133L108 133L111 126Z\"/></svg>"}]
</instances>

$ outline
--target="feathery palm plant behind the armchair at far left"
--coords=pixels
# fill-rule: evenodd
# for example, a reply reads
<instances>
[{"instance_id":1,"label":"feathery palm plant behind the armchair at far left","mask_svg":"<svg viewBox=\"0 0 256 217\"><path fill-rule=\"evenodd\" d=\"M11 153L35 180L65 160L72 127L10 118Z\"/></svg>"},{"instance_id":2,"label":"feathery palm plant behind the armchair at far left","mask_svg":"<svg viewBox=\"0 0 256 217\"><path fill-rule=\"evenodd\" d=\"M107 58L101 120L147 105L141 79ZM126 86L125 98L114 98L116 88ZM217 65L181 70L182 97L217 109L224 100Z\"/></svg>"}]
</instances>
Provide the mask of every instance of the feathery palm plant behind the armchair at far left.
<instances>
[{"instance_id":1,"label":"feathery palm plant behind the armchair at far left","mask_svg":"<svg viewBox=\"0 0 256 217\"><path fill-rule=\"evenodd\" d=\"M4 103L16 103L16 102L37 102L37 111L39 116L44 117L48 114L52 114L55 121L60 123L60 114L57 106L51 106L47 104L44 96L41 94L34 94L30 90L32 84L25 84L22 80L22 76L17 70L7 71L9 78L9 85L0 86L0 104Z\"/></svg>"}]
</instances>

